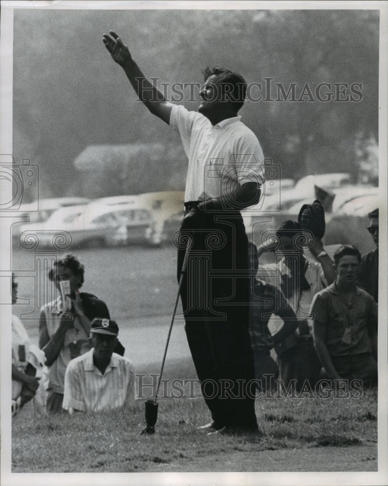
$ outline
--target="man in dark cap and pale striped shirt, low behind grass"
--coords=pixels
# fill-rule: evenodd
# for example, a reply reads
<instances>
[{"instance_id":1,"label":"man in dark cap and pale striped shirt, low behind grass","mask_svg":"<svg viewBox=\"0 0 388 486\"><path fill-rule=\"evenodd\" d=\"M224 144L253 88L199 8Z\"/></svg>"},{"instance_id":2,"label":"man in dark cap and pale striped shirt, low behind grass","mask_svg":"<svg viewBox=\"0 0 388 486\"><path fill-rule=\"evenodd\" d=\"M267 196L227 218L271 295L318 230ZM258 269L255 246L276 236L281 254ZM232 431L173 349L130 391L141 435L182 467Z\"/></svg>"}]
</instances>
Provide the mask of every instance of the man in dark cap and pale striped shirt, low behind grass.
<instances>
[{"instance_id":1,"label":"man in dark cap and pale striped shirt, low behind grass","mask_svg":"<svg viewBox=\"0 0 388 486\"><path fill-rule=\"evenodd\" d=\"M92 349L71 360L65 374L63 408L72 413L126 408L134 402L134 368L113 352L119 328L115 321L93 319Z\"/></svg>"}]
</instances>

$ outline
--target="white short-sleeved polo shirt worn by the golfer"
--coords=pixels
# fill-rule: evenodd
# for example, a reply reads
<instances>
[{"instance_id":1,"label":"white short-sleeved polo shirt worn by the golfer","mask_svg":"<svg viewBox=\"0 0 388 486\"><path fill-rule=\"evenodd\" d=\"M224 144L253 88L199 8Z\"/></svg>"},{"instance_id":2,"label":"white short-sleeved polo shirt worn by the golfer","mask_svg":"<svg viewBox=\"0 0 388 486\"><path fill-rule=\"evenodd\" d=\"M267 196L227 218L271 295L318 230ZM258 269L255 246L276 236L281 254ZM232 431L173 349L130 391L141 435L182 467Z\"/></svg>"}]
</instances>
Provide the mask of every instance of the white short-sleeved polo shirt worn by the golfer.
<instances>
[{"instance_id":1,"label":"white short-sleeved polo shirt worn by the golfer","mask_svg":"<svg viewBox=\"0 0 388 486\"><path fill-rule=\"evenodd\" d=\"M180 134L189 159L185 201L230 194L236 183L264 184L264 155L256 135L240 116L216 125L201 113L174 105L170 125Z\"/></svg>"}]
</instances>

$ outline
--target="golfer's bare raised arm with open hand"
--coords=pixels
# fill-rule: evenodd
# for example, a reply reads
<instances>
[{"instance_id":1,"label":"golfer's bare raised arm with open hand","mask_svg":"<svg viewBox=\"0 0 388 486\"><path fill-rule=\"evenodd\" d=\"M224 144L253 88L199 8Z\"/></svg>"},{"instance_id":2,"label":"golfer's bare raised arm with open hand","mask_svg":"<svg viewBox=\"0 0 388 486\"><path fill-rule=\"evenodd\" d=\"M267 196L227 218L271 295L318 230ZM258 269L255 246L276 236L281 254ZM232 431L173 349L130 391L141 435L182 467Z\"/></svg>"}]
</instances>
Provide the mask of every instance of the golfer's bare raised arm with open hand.
<instances>
[{"instance_id":1,"label":"golfer's bare raised arm with open hand","mask_svg":"<svg viewBox=\"0 0 388 486\"><path fill-rule=\"evenodd\" d=\"M169 124L173 104L169 103L157 87L144 76L121 38L113 31L109 31L109 34L103 35L105 47L110 52L113 60L124 69L139 99L153 115Z\"/></svg>"}]
</instances>

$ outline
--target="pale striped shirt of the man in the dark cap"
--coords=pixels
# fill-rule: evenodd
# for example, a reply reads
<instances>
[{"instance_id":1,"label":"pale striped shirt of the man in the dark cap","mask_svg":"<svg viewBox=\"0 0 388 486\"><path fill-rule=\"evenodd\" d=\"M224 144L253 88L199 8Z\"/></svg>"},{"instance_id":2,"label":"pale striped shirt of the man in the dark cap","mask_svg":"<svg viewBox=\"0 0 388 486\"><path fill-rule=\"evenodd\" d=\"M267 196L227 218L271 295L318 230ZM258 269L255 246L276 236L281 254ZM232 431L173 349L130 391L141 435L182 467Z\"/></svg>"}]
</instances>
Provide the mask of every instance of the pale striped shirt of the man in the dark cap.
<instances>
[{"instance_id":1,"label":"pale striped shirt of the man in the dark cap","mask_svg":"<svg viewBox=\"0 0 388 486\"><path fill-rule=\"evenodd\" d=\"M128 358L112 354L104 375L93 364L93 348L71 360L65 374L63 408L99 412L133 404L134 368Z\"/></svg>"}]
</instances>

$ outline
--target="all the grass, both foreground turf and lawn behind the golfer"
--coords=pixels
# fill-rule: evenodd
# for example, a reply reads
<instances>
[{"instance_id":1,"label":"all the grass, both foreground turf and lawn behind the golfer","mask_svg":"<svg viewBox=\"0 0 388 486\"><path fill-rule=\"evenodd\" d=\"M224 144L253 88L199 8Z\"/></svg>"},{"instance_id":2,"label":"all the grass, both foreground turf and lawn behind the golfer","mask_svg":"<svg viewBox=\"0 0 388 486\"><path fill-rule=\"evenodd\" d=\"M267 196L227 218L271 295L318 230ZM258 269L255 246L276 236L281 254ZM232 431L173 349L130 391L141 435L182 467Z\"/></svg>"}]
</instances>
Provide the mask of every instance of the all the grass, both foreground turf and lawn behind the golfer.
<instances>
[{"instance_id":1,"label":"all the grass, both foreground turf and lawn behind the golfer","mask_svg":"<svg viewBox=\"0 0 388 486\"><path fill-rule=\"evenodd\" d=\"M83 290L103 298L116 318L130 359L137 349L137 373L158 373L176 295L175 249L141 247L83 250ZM29 304L15 306L30 337L37 340L34 309L34 254L14 252L20 277L19 296ZM30 312L29 318L21 313ZM166 317L167 316L167 317ZM136 341L148 330L150 339ZM164 327L163 327L164 326ZM163 378L194 378L184 333L177 322ZM176 329L178 328L178 329ZM160 333L155 334L155 330ZM180 334L179 334L179 332ZM150 359L150 350L158 357ZM159 349L158 348L158 349ZM132 348L133 349L133 348ZM169 349L170 353L170 349ZM178 359L179 358L179 359ZM157 361L159 360L159 361ZM139 435L145 425L139 400L131 413L41 417L12 424L13 472L189 472L189 471L376 471L377 396L257 399L262 434L206 435L197 427L210 421L202 398L161 399L157 433Z\"/></svg>"}]
</instances>

